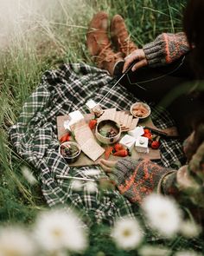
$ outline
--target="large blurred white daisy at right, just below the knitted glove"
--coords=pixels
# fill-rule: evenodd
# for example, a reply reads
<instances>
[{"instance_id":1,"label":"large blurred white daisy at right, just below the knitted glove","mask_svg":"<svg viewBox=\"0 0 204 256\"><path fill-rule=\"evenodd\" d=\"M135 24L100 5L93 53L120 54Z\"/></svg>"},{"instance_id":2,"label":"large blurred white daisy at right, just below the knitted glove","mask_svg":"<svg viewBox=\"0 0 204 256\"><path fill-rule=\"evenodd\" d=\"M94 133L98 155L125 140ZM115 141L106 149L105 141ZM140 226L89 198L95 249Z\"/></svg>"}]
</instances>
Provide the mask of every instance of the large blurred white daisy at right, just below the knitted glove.
<instances>
[{"instance_id":1,"label":"large blurred white daisy at right, just below the knitted glove","mask_svg":"<svg viewBox=\"0 0 204 256\"><path fill-rule=\"evenodd\" d=\"M161 194L150 194L143 200L143 210L152 228L166 237L179 231L182 218L175 200Z\"/></svg>"}]
</instances>

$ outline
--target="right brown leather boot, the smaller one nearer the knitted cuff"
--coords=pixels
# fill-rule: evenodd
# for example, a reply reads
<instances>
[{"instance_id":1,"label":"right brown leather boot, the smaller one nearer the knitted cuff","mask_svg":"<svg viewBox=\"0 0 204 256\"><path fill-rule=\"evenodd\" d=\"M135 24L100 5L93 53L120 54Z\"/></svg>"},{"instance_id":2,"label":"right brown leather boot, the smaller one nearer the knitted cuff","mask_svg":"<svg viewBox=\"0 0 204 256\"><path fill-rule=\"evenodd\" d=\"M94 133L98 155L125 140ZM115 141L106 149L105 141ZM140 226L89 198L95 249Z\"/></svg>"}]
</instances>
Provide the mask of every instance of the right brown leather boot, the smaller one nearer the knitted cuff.
<instances>
[{"instance_id":1,"label":"right brown leather boot, the smaller one nearer the knitted cuff","mask_svg":"<svg viewBox=\"0 0 204 256\"><path fill-rule=\"evenodd\" d=\"M133 50L137 49L136 44L130 39L123 17L118 14L112 17L111 36L112 43L124 56L128 56Z\"/></svg>"}]
</instances>

